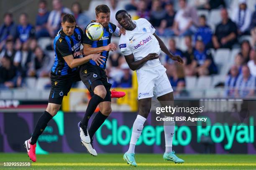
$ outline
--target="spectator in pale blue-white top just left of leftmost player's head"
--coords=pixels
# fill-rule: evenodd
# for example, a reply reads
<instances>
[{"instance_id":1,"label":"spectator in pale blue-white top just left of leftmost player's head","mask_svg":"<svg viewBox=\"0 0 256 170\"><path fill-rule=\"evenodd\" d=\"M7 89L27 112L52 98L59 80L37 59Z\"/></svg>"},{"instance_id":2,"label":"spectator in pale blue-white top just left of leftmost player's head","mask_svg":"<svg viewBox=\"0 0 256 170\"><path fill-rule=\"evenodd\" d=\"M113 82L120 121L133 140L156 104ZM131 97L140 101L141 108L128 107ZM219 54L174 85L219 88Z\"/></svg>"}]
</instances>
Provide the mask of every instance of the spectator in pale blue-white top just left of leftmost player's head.
<instances>
[{"instance_id":1,"label":"spectator in pale blue-white top just left of leftmost player's head","mask_svg":"<svg viewBox=\"0 0 256 170\"><path fill-rule=\"evenodd\" d=\"M47 21L47 30L51 37L55 37L56 33L59 30L59 25L61 23L61 14L71 14L71 10L67 7L64 7L62 5L61 0L53 0L52 1L53 9L49 15L48 21Z\"/></svg>"}]
</instances>

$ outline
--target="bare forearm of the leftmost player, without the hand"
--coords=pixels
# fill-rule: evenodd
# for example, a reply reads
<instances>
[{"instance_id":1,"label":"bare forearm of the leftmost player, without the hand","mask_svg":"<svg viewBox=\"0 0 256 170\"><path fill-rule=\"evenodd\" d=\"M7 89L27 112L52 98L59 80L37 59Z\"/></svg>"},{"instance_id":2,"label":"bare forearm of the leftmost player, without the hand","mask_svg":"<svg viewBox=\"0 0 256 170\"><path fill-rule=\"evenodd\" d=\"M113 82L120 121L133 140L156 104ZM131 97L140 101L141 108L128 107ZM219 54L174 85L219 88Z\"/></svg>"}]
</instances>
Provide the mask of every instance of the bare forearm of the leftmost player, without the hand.
<instances>
[{"instance_id":1,"label":"bare forearm of the leftmost player, without the hand","mask_svg":"<svg viewBox=\"0 0 256 170\"><path fill-rule=\"evenodd\" d=\"M67 62L67 65L69 65L70 68L75 68L75 67L78 67L79 65L83 65L86 62L90 61L92 59L92 55L87 55L83 58L76 58L76 59L74 59L73 55L68 55L63 58Z\"/></svg>"}]
</instances>

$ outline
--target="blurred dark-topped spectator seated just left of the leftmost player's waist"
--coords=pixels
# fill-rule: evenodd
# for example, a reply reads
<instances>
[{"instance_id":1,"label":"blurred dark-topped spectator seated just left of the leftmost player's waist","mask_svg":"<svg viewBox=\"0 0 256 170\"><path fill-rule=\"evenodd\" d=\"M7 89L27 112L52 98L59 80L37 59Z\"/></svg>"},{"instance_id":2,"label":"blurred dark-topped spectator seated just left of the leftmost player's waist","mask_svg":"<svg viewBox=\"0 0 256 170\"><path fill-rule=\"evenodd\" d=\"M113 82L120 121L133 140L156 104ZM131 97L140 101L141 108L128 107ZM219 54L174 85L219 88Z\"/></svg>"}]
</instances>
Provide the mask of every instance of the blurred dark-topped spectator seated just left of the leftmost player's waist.
<instances>
[{"instance_id":1,"label":"blurred dark-topped spectator seated just left of the leftmost player's waist","mask_svg":"<svg viewBox=\"0 0 256 170\"><path fill-rule=\"evenodd\" d=\"M43 50L37 46L32 56L31 65L28 71L29 76L46 77L49 76L52 64L50 58Z\"/></svg>"}]
</instances>

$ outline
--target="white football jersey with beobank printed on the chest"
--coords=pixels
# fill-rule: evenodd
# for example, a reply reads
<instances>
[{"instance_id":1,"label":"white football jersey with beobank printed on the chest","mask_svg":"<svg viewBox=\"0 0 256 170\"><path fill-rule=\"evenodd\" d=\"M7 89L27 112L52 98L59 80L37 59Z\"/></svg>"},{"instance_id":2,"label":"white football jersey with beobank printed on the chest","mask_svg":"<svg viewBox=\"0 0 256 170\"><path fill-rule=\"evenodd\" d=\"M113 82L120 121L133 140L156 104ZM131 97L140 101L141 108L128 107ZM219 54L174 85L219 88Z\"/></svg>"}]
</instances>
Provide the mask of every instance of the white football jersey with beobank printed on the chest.
<instances>
[{"instance_id":1,"label":"white football jersey with beobank printed on the chest","mask_svg":"<svg viewBox=\"0 0 256 170\"><path fill-rule=\"evenodd\" d=\"M136 28L132 31L126 30L125 35L121 35L119 40L119 48L123 55L130 55L133 53L134 60L141 60L149 53L161 52L159 42L153 35L155 28L144 18L133 20ZM159 59L147 61L143 67L156 67L161 65Z\"/></svg>"}]
</instances>

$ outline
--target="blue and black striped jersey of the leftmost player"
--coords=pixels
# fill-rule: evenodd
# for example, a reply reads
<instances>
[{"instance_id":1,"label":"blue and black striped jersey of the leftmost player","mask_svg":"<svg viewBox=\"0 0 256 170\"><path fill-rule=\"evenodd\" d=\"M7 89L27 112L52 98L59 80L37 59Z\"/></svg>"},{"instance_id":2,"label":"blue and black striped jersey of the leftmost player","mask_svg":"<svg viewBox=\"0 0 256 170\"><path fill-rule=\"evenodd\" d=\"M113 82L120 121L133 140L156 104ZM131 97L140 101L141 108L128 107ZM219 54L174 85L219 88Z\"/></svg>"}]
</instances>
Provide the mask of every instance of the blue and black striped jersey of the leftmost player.
<instances>
[{"instance_id":1,"label":"blue and black striped jersey of the leftmost player","mask_svg":"<svg viewBox=\"0 0 256 170\"><path fill-rule=\"evenodd\" d=\"M74 34L67 36L63 30L59 30L54 38L55 60L51 69L56 75L68 75L77 68L70 68L64 60L64 57L73 55L74 52L80 50L80 45L83 42L83 31L79 27L75 27ZM77 58L77 57L74 57Z\"/></svg>"}]
</instances>

